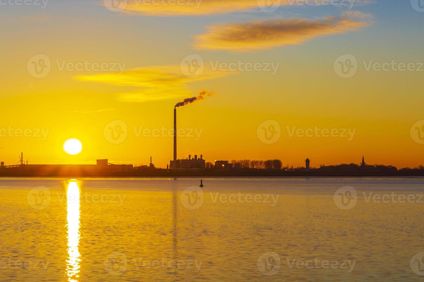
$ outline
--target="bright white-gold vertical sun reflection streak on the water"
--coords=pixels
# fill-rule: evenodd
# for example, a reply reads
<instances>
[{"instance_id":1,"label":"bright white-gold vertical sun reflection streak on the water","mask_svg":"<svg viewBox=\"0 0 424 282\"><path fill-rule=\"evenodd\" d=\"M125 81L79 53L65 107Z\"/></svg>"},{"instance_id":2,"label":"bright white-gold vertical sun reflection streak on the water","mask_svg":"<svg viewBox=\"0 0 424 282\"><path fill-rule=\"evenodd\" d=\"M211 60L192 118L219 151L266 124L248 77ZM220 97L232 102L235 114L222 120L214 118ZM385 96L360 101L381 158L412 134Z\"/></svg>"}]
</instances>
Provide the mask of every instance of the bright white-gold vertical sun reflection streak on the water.
<instances>
[{"instance_id":1,"label":"bright white-gold vertical sun reflection streak on the water","mask_svg":"<svg viewBox=\"0 0 424 282\"><path fill-rule=\"evenodd\" d=\"M80 189L76 180L71 180L67 188L67 238L68 259L67 277L70 282L78 282L81 255L78 250L80 240Z\"/></svg>"}]
</instances>

